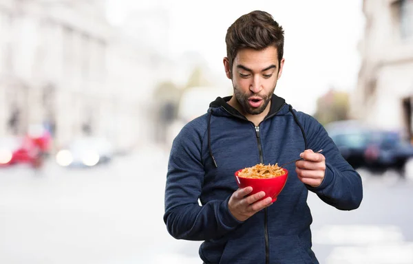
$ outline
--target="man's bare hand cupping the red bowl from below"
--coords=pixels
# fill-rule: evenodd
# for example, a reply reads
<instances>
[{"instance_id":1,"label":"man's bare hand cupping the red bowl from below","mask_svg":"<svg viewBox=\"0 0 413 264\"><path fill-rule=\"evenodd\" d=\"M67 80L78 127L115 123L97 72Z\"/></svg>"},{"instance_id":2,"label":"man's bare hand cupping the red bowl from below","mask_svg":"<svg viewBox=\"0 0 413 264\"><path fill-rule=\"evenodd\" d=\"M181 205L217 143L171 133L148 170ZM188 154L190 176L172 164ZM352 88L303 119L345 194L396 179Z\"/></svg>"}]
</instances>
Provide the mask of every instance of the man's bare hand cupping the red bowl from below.
<instances>
[{"instance_id":1,"label":"man's bare hand cupping the red bowl from below","mask_svg":"<svg viewBox=\"0 0 413 264\"><path fill-rule=\"evenodd\" d=\"M228 208L229 212L238 221L245 221L246 219L252 217L256 212L271 206L271 197L266 197L266 199L260 200L265 196L265 192L257 192L255 195L248 195L253 191L252 187L246 187L236 190L233 195L229 198Z\"/></svg>"}]
</instances>

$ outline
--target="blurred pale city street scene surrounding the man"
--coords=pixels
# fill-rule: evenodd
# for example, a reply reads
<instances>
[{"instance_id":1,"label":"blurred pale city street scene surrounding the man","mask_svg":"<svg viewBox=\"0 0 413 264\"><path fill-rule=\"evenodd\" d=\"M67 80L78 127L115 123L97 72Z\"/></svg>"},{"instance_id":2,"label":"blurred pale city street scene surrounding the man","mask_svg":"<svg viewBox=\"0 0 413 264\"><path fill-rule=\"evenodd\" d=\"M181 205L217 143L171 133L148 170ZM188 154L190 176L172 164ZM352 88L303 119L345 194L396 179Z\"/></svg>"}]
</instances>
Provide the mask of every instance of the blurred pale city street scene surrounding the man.
<instances>
[{"instance_id":1,"label":"blurred pale city street scene surrounding the man","mask_svg":"<svg viewBox=\"0 0 413 264\"><path fill-rule=\"evenodd\" d=\"M252 10L285 30L275 93L363 179L351 212L309 194L320 263L413 263L413 0L0 0L0 263L201 263L162 220L169 149Z\"/></svg>"}]
</instances>

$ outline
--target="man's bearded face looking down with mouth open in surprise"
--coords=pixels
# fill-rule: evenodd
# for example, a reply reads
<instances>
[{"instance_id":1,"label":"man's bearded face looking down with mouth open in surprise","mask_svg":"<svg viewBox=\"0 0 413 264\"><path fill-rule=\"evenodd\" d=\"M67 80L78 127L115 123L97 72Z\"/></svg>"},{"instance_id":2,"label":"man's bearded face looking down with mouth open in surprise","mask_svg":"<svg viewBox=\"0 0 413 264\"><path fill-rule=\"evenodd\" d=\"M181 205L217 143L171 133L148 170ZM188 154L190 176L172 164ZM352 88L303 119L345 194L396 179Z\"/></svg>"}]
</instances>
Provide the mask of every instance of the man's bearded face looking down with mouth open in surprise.
<instances>
[{"instance_id":1,"label":"man's bearded face looking down with mouth open in surprise","mask_svg":"<svg viewBox=\"0 0 413 264\"><path fill-rule=\"evenodd\" d=\"M276 47L240 50L231 72L228 58L224 58L226 76L232 80L234 96L244 113L258 115L268 107L283 65L284 58L278 63Z\"/></svg>"}]
</instances>

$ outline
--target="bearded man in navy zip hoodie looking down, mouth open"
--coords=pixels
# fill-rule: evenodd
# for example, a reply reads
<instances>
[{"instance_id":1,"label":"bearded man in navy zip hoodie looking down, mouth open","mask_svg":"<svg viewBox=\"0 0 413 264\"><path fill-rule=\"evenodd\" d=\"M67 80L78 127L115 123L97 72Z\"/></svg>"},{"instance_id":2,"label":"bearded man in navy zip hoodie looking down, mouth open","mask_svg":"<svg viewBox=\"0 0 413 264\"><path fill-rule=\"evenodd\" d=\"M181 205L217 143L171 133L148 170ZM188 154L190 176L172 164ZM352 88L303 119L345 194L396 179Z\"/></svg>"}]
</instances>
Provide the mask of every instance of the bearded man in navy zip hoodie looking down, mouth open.
<instances>
[{"instance_id":1,"label":"bearded man in navy zip hoodie looking down, mouth open","mask_svg":"<svg viewBox=\"0 0 413 264\"><path fill-rule=\"evenodd\" d=\"M339 210L361 203L361 177L324 127L273 94L283 49L284 30L271 14L237 19L226 33L224 58L233 96L211 102L173 142L164 221L176 239L204 241L204 263L318 263L308 190ZM304 160L286 166L288 181L274 203L259 201L263 192L248 195L251 187L237 188L236 170L297 157Z\"/></svg>"}]
</instances>

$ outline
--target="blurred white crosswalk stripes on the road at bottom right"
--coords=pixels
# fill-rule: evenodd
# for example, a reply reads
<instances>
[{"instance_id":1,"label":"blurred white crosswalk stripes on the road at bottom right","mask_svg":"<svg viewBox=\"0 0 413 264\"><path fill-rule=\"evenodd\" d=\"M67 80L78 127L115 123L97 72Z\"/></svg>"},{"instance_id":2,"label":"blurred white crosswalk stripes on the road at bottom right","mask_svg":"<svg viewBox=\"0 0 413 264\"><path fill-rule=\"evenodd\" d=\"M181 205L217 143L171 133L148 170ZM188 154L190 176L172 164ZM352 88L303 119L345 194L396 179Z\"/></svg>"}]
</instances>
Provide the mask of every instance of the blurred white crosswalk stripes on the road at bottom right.
<instances>
[{"instance_id":1,"label":"blurred white crosswalk stripes on the road at bottom right","mask_svg":"<svg viewBox=\"0 0 413 264\"><path fill-rule=\"evenodd\" d=\"M413 242L395 225L326 225L313 242L334 246L326 264L413 264Z\"/></svg>"}]
</instances>

